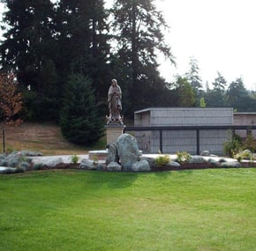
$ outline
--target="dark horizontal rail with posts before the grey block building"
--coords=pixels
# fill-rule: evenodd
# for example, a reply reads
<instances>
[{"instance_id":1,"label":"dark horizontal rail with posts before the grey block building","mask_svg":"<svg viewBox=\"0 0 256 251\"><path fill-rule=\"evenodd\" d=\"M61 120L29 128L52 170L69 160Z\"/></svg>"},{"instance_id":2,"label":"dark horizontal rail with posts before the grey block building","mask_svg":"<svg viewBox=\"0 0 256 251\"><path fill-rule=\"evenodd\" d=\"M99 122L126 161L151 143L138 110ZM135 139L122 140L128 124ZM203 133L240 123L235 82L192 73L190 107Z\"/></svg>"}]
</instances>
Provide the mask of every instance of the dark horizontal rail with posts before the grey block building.
<instances>
[{"instance_id":1,"label":"dark horizontal rail with posts before the grey block building","mask_svg":"<svg viewBox=\"0 0 256 251\"><path fill-rule=\"evenodd\" d=\"M256 129L256 126L231 126L231 125L221 125L221 126L147 126L147 127L125 127L126 131L159 131L159 149L162 152L162 131L168 130L195 130L196 131L196 151L200 154L200 130L207 129L230 129L235 134L236 129L246 130L247 134Z\"/></svg>"}]
</instances>

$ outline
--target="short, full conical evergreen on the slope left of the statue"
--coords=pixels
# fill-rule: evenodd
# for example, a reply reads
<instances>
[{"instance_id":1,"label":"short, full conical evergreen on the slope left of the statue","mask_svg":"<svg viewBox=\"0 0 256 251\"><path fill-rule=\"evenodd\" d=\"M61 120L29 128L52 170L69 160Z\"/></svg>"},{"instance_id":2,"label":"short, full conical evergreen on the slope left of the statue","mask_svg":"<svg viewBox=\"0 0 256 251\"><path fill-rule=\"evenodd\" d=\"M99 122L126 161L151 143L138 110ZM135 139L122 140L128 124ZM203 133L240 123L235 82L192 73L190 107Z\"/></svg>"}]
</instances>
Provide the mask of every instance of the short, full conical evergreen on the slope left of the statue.
<instances>
[{"instance_id":1,"label":"short, full conical evergreen on the slope left of the statue","mask_svg":"<svg viewBox=\"0 0 256 251\"><path fill-rule=\"evenodd\" d=\"M102 121L91 80L82 74L69 76L60 114L64 137L74 144L93 144L103 135Z\"/></svg>"}]
</instances>

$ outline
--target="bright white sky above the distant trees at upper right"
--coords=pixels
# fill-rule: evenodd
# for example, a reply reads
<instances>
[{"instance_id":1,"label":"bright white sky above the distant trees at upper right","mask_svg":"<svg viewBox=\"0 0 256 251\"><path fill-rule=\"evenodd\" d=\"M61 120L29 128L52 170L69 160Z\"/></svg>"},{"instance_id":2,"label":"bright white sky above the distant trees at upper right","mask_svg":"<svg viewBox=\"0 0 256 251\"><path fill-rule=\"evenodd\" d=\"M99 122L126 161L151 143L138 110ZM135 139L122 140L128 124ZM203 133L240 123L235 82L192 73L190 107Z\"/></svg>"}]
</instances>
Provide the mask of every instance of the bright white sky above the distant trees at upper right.
<instances>
[{"instance_id":1,"label":"bright white sky above the distant trees at upper right","mask_svg":"<svg viewBox=\"0 0 256 251\"><path fill-rule=\"evenodd\" d=\"M112 2L112 0L107 0ZM160 57L162 77L171 81L198 61L203 83L211 84L217 70L228 84L243 78L256 90L256 0L155 0L170 26L166 43L177 68ZM0 15L3 8L0 5Z\"/></svg>"}]
</instances>

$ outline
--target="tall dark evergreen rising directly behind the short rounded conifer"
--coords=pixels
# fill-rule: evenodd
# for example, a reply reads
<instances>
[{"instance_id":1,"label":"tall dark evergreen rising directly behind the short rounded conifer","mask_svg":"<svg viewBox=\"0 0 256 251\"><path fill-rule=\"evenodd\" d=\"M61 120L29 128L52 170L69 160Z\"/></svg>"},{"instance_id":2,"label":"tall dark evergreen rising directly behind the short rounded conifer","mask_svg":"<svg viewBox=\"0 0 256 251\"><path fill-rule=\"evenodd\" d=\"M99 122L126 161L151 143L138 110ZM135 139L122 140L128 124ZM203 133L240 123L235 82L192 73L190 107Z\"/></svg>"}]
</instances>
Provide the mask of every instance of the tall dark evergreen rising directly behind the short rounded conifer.
<instances>
[{"instance_id":1,"label":"tall dark evergreen rising directly behind the short rounded conifer","mask_svg":"<svg viewBox=\"0 0 256 251\"><path fill-rule=\"evenodd\" d=\"M70 73L83 74L92 79L97 98L104 99L109 87L107 18L102 0L61 0L55 19L60 81Z\"/></svg>"}]
</instances>

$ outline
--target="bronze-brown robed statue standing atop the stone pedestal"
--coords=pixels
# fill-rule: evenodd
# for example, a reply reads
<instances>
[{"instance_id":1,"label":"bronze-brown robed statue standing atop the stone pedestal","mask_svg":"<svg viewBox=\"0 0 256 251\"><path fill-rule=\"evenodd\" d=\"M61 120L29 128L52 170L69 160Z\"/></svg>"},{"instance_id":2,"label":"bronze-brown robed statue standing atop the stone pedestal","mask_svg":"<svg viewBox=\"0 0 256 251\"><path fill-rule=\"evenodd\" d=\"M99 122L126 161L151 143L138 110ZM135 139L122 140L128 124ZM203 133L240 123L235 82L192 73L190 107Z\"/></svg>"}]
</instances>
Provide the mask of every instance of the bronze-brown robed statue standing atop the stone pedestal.
<instances>
[{"instance_id":1,"label":"bronze-brown robed statue standing atop the stone pedestal","mask_svg":"<svg viewBox=\"0 0 256 251\"><path fill-rule=\"evenodd\" d=\"M120 112L122 111L122 91L119 85L117 85L117 79L111 80L108 93L108 105L109 116L107 118L107 124L122 124L123 118Z\"/></svg>"}]
</instances>

